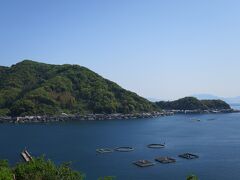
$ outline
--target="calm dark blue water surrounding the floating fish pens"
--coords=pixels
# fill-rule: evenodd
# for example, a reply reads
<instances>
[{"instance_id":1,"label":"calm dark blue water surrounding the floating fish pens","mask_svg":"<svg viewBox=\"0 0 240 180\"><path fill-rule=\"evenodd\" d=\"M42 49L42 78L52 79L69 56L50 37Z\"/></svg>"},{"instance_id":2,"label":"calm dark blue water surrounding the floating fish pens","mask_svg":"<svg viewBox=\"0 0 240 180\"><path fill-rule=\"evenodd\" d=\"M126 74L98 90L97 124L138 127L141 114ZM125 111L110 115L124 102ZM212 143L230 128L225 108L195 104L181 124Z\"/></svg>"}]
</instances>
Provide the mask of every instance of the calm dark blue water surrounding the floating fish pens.
<instances>
[{"instance_id":1,"label":"calm dark blue water surrounding the floating fish pens","mask_svg":"<svg viewBox=\"0 0 240 180\"><path fill-rule=\"evenodd\" d=\"M201 119L195 122L192 118ZM148 149L147 144L165 141L164 149ZM155 119L85 121L51 124L1 124L0 159L20 161L27 147L57 163L72 161L87 179L114 175L118 180L239 179L240 114L176 115ZM134 152L97 155L99 147L133 146ZM177 157L196 153L196 160ZM138 168L132 162L153 160L160 155L177 159L175 164Z\"/></svg>"}]
</instances>

